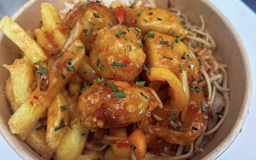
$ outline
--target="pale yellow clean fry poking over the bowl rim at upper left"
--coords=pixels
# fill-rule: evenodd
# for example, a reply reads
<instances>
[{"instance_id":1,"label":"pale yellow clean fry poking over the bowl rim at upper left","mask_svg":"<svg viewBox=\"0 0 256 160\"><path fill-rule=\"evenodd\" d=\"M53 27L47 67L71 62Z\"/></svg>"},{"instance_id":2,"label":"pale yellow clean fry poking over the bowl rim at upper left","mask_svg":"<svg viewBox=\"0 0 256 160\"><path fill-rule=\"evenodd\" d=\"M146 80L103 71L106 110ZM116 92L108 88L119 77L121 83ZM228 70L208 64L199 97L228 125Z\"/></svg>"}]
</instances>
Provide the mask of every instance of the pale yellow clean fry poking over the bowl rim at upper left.
<instances>
[{"instance_id":1,"label":"pale yellow clean fry poking over the bowl rim at upper left","mask_svg":"<svg viewBox=\"0 0 256 160\"><path fill-rule=\"evenodd\" d=\"M20 49L28 56L32 63L36 61L45 61L47 56L43 49L36 44L26 31L24 31L19 24L14 22L7 15L4 16L0 21L0 31L12 40ZM35 65L38 68L38 65Z\"/></svg>"}]
</instances>

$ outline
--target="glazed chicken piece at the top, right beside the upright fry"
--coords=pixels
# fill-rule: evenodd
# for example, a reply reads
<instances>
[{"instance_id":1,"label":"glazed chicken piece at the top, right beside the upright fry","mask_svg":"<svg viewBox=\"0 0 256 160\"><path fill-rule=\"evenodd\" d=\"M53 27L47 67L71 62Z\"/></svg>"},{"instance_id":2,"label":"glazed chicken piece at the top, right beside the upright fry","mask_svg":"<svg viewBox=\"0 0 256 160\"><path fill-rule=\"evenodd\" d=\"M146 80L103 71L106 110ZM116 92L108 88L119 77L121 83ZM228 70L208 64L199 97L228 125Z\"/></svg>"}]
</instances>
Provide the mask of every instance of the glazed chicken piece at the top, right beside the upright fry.
<instances>
[{"instance_id":1,"label":"glazed chicken piece at the top, right beside the upright fry","mask_svg":"<svg viewBox=\"0 0 256 160\"><path fill-rule=\"evenodd\" d=\"M117 24L117 21L111 10L104 5L97 3L87 4L86 12L83 8L83 3L77 4L75 9L68 13L65 25L68 29L72 29L76 25L77 19L82 18L83 32L79 38L84 43L86 51L90 51L97 31L103 28L111 28Z\"/></svg>"}]
</instances>

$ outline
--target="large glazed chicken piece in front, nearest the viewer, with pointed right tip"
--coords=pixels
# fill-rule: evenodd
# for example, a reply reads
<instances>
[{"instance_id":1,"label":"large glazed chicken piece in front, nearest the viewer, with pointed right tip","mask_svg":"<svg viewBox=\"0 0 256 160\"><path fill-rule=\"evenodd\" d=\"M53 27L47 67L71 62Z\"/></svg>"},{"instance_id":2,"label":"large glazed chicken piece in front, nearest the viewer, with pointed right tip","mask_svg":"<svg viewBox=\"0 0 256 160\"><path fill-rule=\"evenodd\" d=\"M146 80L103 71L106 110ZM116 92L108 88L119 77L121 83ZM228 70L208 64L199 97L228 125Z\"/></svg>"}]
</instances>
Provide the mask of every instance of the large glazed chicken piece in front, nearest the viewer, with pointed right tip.
<instances>
[{"instance_id":1,"label":"large glazed chicken piece in front, nearest the viewer, with pointed right tip","mask_svg":"<svg viewBox=\"0 0 256 160\"><path fill-rule=\"evenodd\" d=\"M92 130L139 122L157 106L162 103L154 90L125 81L95 83L79 98L82 125Z\"/></svg>"}]
</instances>

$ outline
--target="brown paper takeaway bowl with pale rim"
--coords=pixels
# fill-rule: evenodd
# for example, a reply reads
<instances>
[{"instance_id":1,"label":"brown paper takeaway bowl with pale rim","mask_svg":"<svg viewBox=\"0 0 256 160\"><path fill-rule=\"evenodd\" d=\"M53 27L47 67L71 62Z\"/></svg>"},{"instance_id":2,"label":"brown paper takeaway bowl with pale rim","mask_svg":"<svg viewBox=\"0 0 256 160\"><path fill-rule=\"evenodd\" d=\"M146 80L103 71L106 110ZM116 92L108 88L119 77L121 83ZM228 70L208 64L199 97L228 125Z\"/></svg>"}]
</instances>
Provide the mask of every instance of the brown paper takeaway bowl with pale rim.
<instances>
[{"instance_id":1,"label":"brown paper takeaway bowl with pale rim","mask_svg":"<svg viewBox=\"0 0 256 160\"><path fill-rule=\"evenodd\" d=\"M71 0L70 0L71 1ZM52 3L58 10L65 8L62 0L31 0L20 8L12 17L25 31L41 26L40 4ZM167 8L167 1L157 1L159 6ZM204 147L204 153L195 159L214 159L220 156L235 140L248 115L252 92L250 64L243 43L230 22L208 1L171 0L172 6L188 16L189 22L200 25L199 15L204 16L205 28L214 38L217 49L216 58L228 65L228 87L230 88L230 109L223 125L214 134L212 140ZM3 64L12 64L19 58L19 48L11 40L0 34L0 131L4 139L22 159L42 159L24 141L10 132L8 120L12 115L10 106L4 97L6 79L10 76Z\"/></svg>"}]
</instances>

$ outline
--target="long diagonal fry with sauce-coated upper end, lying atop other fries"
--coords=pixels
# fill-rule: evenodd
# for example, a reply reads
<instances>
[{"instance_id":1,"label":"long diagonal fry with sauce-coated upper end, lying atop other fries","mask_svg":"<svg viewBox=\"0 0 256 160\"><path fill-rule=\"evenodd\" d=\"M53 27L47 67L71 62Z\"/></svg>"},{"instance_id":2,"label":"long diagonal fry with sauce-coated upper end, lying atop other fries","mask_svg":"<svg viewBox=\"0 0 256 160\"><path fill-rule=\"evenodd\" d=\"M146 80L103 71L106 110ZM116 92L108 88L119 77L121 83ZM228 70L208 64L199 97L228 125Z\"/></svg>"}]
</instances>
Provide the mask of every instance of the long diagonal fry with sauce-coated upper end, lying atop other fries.
<instances>
[{"instance_id":1,"label":"long diagonal fry with sauce-coated upper end, lying atop other fries","mask_svg":"<svg viewBox=\"0 0 256 160\"><path fill-rule=\"evenodd\" d=\"M79 49L77 49L77 46L80 46ZM8 124L13 134L19 134L31 129L39 118L44 115L44 112L51 104L54 97L64 88L75 73L74 71L76 71L81 64L84 52L83 43L81 40L77 40L72 44L72 47L63 51L63 54L49 67L48 88L41 91L40 86L38 86L11 116ZM70 65L67 63L68 59L72 59Z\"/></svg>"}]
</instances>

